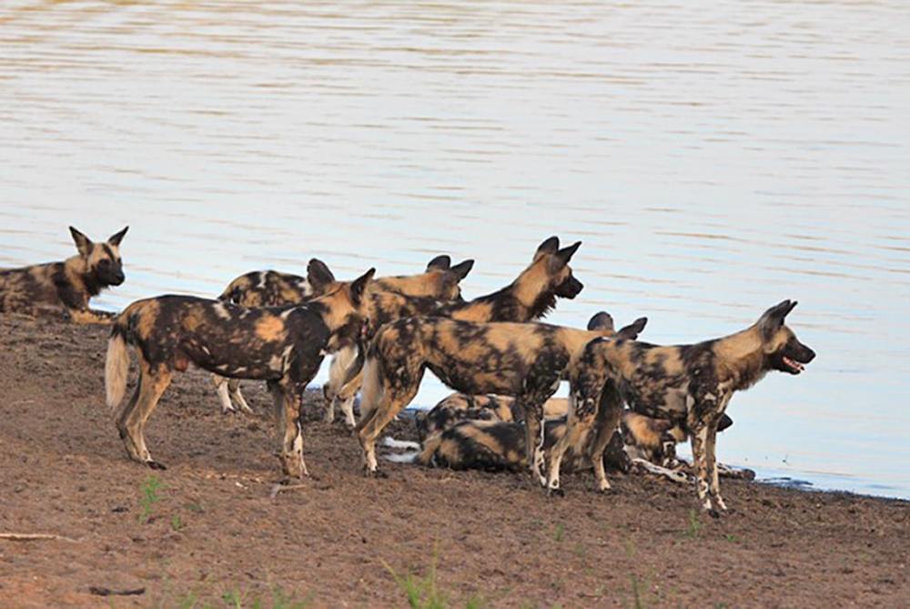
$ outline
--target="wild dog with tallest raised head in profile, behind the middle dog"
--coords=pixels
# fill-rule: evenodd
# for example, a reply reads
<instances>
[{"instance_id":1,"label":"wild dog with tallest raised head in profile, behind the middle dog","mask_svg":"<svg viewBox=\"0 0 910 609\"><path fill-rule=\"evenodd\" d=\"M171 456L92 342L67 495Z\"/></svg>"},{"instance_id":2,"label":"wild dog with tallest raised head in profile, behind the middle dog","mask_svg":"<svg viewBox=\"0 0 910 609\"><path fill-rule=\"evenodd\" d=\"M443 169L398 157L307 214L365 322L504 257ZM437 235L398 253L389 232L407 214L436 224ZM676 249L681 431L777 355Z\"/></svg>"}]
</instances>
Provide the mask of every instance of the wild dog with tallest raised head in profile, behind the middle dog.
<instances>
[{"instance_id":1,"label":"wild dog with tallest raised head in profile, behind the middle dog","mask_svg":"<svg viewBox=\"0 0 910 609\"><path fill-rule=\"evenodd\" d=\"M583 286L573 277L569 267L571 257L580 246L581 241L560 249L559 238L544 240L534 252L531 264L511 284L469 302L440 304L431 299L406 298L389 292L374 294L370 298L370 320L374 320L376 328L391 321L417 316L474 322L538 320L556 306L557 297L573 299L581 292ZM335 370L336 360L333 360L330 370L332 380L325 390L327 400L338 399L346 404L351 425L364 355L363 350L359 350L358 358L353 363L339 359L339 370Z\"/></svg>"}]
</instances>

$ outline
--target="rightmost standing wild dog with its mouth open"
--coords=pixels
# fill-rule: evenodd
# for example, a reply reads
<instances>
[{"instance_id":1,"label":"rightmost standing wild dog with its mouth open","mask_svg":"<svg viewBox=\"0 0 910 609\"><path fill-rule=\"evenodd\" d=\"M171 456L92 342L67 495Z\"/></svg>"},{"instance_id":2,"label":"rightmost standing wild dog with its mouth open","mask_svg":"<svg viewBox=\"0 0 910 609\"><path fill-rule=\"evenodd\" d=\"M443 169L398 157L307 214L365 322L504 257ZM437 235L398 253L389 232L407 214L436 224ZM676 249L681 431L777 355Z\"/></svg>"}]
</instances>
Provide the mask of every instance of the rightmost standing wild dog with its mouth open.
<instances>
[{"instance_id":1,"label":"rightmost standing wild dog with its mouth open","mask_svg":"<svg viewBox=\"0 0 910 609\"><path fill-rule=\"evenodd\" d=\"M670 420L690 435L699 501L713 515L725 510L714 449L733 393L749 389L769 370L799 374L814 360L814 351L784 324L795 306L795 301L784 300L746 330L694 345L592 340L571 365L569 428L547 454L548 488L561 493L560 462L571 437L591 426L598 434L612 431L625 402L633 411ZM595 462L602 461L601 450L593 447ZM596 473L600 490L609 489L602 469Z\"/></svg>"}]
</instances>

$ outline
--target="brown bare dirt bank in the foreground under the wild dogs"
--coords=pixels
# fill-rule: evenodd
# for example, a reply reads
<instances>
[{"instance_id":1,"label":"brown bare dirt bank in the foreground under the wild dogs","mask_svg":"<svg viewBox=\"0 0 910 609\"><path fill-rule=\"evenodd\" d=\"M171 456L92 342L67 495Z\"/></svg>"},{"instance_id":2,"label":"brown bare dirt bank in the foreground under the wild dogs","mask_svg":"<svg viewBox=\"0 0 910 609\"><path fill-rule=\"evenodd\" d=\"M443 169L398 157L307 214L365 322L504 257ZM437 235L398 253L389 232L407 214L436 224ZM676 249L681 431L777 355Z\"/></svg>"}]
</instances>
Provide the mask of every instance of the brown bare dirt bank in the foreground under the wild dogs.
<instances>
[{"instance_id":1,"label":"brown bare dirt bank in the foreground under the wild dogs","mask_svg":"<svg viewBox=\"0 0 910 609\"><path fill-rule=\"evenodd\" d=\"M370 480L315 393L313 478L272 497L272 424L223 416L199 371L149 422L169 466L152 472L127 461L106 409L106 335L0 318L0 533L68 538L0 540L2 607L402 607L408 573L452 607L910 603L908 502L725 481L733 513L713 520L691 488L618 473L606 496L568 476L564 499L508 473L386 463ZM265 411L258 383L245 389Z\"/></svg>"}]
</instances>

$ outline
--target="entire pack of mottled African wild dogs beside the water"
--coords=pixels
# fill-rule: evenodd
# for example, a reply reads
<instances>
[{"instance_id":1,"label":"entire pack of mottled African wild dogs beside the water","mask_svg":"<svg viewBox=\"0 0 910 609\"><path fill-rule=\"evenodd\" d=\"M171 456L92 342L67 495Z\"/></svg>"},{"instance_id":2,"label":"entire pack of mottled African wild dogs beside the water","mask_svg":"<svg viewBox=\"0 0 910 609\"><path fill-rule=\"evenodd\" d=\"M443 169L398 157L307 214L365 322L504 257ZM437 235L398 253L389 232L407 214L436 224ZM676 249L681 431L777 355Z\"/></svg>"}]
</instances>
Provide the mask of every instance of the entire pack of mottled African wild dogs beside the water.
<instances>
[{"instance_id":1,"label":"entire pack of mottled African wild dogs beside the water","mask_svg":"<svg viewBox=\"0 0 910 609\"><path fill-rule=\"evenodd\" d=\"M693 480L703 509L716 514L726 509L719 476L732 472L717 462L716 437L733 422L725 414L733 393L770 370L799 374L815 356L785 323L792 300L744 330L690 345L642 342L645 318L616 330L604 311L585 329L541 323L559 299L574 299L583 287L570 264L581 242L561 247L556 237L540 244L509 285L470 300L460 282L473 260L453 265L442 255L419 274L376 277L369 269L341 281L311 259L306 277L254 271L214 299L164 295L106 313L91 310L89 299L123 283L126 228L101 243L70 231L76 256L0 270L0 311L112 325L106 401L129 457L151 468L164 466L148 450L148 418L174 374L193 365L214 375L223 411L250 411L239 381L265 381L282 470L308 475L301 398L330 355L325 419L333 421L340 408L368 476L384 475L377 459L382 431L429 369L457 393L418 415L420 444L408 460L530 470L558 495L563 469L592 469L601 492L610 489L606 465L640 469ZM124 402L130 350L139 372ZM552 398L561 381L569 381L568 400ZM675 452L686 440L691 466Z\"/></svg>"}]
</instances>

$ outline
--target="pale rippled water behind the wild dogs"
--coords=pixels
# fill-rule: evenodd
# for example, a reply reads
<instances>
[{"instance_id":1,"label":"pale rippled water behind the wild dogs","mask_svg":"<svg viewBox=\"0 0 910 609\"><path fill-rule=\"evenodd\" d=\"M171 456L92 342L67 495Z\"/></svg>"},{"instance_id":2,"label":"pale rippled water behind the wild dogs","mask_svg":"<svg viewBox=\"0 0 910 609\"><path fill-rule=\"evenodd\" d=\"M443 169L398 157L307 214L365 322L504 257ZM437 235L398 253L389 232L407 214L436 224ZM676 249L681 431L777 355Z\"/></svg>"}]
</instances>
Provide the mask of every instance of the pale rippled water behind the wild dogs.
<instances>
[{"instance_id":1,"label":"pale rippled water behind the wild dogs","mask_svg":"<svg viewBox=\"0 0 910 609\"><path fill-rule=\"evenodd\" d=\"M0 266L129 224L100 308L441 252L470 297L581 239L557 323L686 342L799 299L819 356L733 399L721 459L910 497L907 31L898 0L6 0Z\"/></svg>"}]
</instances>

